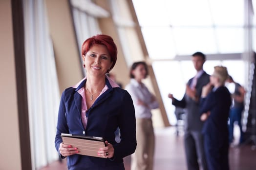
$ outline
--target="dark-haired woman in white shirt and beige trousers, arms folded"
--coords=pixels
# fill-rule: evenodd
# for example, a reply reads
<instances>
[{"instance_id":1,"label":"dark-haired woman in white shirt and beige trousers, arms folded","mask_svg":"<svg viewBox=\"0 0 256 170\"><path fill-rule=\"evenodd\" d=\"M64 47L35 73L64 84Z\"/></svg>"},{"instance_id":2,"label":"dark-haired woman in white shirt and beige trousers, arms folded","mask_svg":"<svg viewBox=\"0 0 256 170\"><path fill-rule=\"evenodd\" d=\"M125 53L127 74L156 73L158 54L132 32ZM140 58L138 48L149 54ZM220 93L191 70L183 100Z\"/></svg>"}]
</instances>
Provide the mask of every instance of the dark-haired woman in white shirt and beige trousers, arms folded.
<instances>
[{"instance_id":1,"label":"dark-haired woman in white shirt and beige trousers, arms folded","mask_svg":"<svg viewBox=\"0 0 256 170\"><path fill-rule=\"evenodd\" d=\"M154 130L151 109L158 108L156 98L149 92L142 80L148 76L145 62L133 63L130 68L130 93L135 107L137 149L131 157L131 170L152 170L154 156Z\"/></svg>"}]
</instances>

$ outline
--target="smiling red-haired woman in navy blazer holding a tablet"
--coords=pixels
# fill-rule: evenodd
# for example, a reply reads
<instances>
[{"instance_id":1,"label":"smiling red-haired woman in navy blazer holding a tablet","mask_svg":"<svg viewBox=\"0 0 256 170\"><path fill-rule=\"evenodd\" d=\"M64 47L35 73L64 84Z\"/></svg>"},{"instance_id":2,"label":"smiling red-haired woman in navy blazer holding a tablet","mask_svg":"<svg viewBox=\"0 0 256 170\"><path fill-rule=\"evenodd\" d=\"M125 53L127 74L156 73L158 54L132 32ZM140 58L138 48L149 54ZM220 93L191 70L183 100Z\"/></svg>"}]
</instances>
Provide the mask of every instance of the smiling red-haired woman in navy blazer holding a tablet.
<instances>
[{"instance_id":1,"label":"smiling red-haired woman in navy blazer holding a tablet","mask_svg":"<svg viewBox=\"0 0 256 170\"><path fill-rule=\"evenodd\" d=\"M124 170L123 157L136 149L136 125L130 95L106 76L116 63L116 45L108 35L92 36L83 43L82 57L86 77L62 94L55 147L67 156L69 170ZM104 137L106 147L98 151L103 158L79 154L79 148L63 143L62 133Z\"/></svg>"}]
</instances>

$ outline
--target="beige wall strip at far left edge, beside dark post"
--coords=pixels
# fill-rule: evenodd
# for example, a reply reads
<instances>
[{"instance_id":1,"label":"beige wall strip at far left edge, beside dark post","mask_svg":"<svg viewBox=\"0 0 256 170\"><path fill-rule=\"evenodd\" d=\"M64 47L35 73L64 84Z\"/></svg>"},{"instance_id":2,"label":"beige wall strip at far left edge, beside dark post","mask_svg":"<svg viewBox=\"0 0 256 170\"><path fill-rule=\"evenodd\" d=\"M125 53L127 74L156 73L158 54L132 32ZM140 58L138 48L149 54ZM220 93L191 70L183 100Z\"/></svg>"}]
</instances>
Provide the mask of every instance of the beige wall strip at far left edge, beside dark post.
<instances>
[{"instance_id":1,"label":"beige wall strip at far left edge, beside dark post","mask_svg":"<svg viewBox=\"0 0 256 170\"><path fill-rule=\"evenodd\" d=\"M0 0L0 170L21 170L11 12L11 0Z\"/></svg>"}]
</instances>

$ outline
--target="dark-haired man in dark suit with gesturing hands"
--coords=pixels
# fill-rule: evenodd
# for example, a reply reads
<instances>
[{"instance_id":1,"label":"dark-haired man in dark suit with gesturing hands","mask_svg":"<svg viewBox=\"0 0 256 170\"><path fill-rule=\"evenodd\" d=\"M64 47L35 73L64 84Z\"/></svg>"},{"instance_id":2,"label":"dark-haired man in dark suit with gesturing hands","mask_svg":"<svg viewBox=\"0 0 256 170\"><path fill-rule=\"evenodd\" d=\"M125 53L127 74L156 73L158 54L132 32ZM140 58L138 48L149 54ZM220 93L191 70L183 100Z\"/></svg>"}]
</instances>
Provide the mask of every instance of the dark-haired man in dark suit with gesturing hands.
<instances>
[{"instance_id":1,"label":"dark-haired man in dark suit with gesturing hands","mask_svg":"<svg viewBox=\"0 0 256 170\"><path fill-rule=\"evenodd\" d=\"M199 164L203 170L207 170L203 136L201 134L203 121L200 120L199 113L199 98L202 93L202 87L210 81L210 75L203 70L205 60L206 57L202 52L192 54L192 62L196 70L196 75L187 83L186 93L183 99L178 101L172 94L168 95L172 99L173 105L185 108L184 140L188 170L199 170Z\"/></svg>"}]
</instances>

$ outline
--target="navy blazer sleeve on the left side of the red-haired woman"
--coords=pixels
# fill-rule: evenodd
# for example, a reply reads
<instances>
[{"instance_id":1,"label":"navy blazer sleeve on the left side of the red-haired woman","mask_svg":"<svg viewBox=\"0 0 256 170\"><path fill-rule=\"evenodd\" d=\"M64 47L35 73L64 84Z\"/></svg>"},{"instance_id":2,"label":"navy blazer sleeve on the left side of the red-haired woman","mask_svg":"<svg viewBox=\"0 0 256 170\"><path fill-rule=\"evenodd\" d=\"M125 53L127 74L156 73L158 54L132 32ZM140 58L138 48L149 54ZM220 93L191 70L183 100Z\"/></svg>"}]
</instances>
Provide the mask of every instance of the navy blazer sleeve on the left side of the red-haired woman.
<instances>
[{"instance_id":1,"label":"navy blazer sleeve on the left side of the red-haired woman","mask_svg":"<svg viewBox=\"0 0 256 170\"><path fill-rule=\"evenodd\" d=\"M59 147L60 147L60 144L62 143L61 134L68 133L68 126L67 126L67 123L66 123L67 121L66 121L66 117L65 117L66 108L65 108L64 99L65 99L65 93L63 92L62 97L61 97L60 106L59 106L57 132L56 132L56 136L55 136L55 148L59 152L59 154L60 154ZM64 158L64 156L62 156L62 158Z\"/></svg>"}]
</instances>

